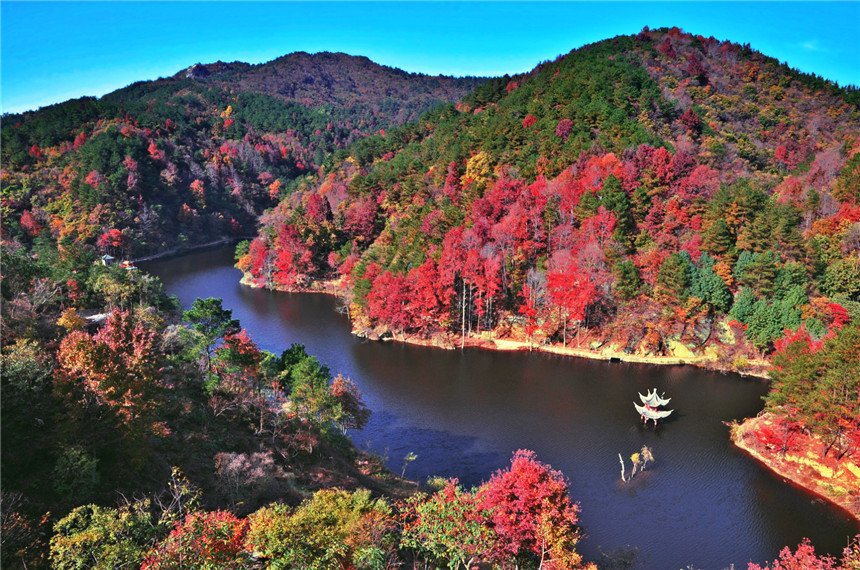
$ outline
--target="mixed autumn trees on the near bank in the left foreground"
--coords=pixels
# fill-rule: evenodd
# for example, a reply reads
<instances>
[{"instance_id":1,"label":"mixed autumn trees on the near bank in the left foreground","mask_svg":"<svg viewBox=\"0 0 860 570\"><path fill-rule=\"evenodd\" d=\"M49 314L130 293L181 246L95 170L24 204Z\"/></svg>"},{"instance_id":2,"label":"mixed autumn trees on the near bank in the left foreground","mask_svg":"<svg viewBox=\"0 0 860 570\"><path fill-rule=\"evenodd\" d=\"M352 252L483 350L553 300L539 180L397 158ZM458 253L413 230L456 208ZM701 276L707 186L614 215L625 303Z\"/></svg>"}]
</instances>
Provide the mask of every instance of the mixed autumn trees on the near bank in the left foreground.
<instances>
[{"instance_id":1,"label":"mixed autumn trees on the near bank in the left foreground","mask_svg":"<svg viewBox=\"0 0 860 570\"><path fill-rule=\"evenodd\" d=\"M583 566L560 472L520 450L419 492L346 437L349 378L260 350L220 299L23 249L0 284L4 567Z\"/></svg>"}]
</instances>

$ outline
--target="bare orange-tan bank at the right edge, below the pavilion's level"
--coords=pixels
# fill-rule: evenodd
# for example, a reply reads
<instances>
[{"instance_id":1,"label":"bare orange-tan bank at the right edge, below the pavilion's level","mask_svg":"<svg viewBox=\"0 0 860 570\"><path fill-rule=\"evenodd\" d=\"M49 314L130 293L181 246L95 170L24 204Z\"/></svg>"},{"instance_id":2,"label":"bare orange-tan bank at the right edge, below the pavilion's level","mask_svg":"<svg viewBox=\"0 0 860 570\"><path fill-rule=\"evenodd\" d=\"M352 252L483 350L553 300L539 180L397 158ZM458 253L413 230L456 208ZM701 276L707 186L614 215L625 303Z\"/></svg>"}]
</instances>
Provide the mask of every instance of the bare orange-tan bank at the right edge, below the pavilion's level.
<instances>
[{"instance_id":1,"label":"bare orange-tan bank at the right edge, below the pavilion's level","mask_svg":"<svg viewBox=\"0 0 860 570\"><path fill-rule=\"evenodd\" d=\"M775 416L762 413L732 426L732 441L740 449L780 477L839 505L860 520L860 462L857 458L837 460L830 453L823 457L827 446L817 437L797 434L796 440L783 454L777 446L760 441L759 433L771 428Z\"/></svg>"}]
</instances>

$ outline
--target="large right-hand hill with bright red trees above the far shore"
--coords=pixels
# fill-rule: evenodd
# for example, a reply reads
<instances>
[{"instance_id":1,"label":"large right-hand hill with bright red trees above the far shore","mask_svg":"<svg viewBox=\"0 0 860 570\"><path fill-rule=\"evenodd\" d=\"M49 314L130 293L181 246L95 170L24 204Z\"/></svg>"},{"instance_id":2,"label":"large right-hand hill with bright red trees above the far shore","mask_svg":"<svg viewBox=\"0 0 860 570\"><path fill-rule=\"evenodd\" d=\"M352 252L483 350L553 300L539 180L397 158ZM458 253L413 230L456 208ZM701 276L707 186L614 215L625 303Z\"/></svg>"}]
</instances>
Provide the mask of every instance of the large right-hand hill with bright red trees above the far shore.
<instances>
[{"instance_id":1,"label":"large right-hand hill with bright red trees above the far shore","mask_svg":"<svg viewBox=\"0 0 860 570\"><path fill-rule=\"evenodd\" d=\"M744 370L860 314L855 88L643 30L338 151L262 218L248 279L341 276L367 334Z\"/></svg>"}]
</instances>

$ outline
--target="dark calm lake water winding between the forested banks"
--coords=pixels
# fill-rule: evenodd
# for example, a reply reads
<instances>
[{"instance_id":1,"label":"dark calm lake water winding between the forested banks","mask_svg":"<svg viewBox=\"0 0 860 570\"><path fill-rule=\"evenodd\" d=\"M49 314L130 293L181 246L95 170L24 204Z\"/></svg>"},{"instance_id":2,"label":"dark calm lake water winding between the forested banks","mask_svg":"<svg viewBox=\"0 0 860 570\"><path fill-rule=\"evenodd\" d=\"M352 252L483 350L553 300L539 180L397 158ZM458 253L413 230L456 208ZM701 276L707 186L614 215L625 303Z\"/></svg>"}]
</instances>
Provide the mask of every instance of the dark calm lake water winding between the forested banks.
<instances>
[{"instance_id":1,"label":"dark calm lake water winding between the forested banks","mask_svg":"<svg viewBox=\"0 0 860 570\"><path fill-rule=\"evenodd\" d=\"M220 297L266 350L301 343L333 373L350 376L373 410L352 434L359 448L386 455L407 476L458 477L477 485L509 464L517 449L570 479L587 538L580 550L639 549L643 568L746 568L809 537L840 553L860 532L840 509L782 481L731 445L724 421L753 416L767 386L758 379L691 367L606 363L559 356L446 351L365 341L350 334L337 301L239 284L232 250L219 249L145 269L189 307ZM672 398L671 421L641 427L637 392ZM648 445L655 463L620 481L621 453Z\"/></svg>"}]
</instances>

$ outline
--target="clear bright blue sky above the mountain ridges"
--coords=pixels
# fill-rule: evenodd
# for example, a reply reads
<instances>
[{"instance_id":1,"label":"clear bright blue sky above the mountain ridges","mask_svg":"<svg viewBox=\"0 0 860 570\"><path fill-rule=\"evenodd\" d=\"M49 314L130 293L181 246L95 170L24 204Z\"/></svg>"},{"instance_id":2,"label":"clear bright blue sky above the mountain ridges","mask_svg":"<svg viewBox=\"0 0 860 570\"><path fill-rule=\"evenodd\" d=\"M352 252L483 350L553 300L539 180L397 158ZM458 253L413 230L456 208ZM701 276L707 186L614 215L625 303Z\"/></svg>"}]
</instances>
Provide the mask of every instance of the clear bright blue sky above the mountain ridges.
<instances>
[{"instance_id":1,"label":"clear bright blue sky above the mountain ridges","mask_svg":"<svg viewBox=\"0 0 860 570\"><path fill-rule=\"evenodd\" d=\"M217 60L342 51L407 71L502 75L643 26L679 26L860 85L860 2L0 2L0 109Z\"/></svg>"}]
</instances>

